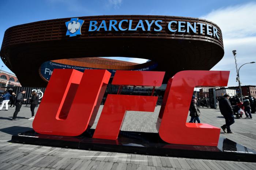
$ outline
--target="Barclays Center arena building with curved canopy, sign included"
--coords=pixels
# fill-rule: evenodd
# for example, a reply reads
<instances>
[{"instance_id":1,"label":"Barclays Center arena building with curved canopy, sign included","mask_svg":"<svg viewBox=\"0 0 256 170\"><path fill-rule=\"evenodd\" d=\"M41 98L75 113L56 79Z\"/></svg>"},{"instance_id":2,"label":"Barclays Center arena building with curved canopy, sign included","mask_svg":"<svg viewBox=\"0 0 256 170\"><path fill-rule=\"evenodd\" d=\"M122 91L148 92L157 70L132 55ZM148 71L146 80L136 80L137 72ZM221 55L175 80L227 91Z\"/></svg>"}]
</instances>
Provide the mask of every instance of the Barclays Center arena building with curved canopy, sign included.
<instances>
[{"instance_id":1,"label":"Barclays Center arena building with curved canopy, sign included","mask_svg":"<svg viewBox=\"0 0 256 170\"><path fill-rule=\"evenodd\" d=\"M0 56L22 86L46 87L53 69L210 70L223 57L221 29L211 21L153 15L82 16L13 26ZM146 63L100 57L147 59Z\"/></svg>"}]
</instances>

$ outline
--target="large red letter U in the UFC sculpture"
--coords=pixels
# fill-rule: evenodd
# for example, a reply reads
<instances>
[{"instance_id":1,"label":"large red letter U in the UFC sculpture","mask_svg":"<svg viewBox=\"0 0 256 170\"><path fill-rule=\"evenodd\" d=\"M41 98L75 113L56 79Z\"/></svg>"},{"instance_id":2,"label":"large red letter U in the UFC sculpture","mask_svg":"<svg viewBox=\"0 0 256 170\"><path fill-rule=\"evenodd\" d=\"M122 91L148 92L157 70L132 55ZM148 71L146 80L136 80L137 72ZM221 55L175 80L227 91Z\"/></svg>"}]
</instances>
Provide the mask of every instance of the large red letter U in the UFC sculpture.
<instances>
[{"instance_id":1,"label":"large red letter U in the UFC sculpture","mask_svg":"<svg viewBox=\"0 0 256 170\"><path fill-rule=\"evenodd\" d=\"M107 70L54 69L33 129L48 135L82 134L94 123L110 75Z\"/></svg>"}]
</instances>

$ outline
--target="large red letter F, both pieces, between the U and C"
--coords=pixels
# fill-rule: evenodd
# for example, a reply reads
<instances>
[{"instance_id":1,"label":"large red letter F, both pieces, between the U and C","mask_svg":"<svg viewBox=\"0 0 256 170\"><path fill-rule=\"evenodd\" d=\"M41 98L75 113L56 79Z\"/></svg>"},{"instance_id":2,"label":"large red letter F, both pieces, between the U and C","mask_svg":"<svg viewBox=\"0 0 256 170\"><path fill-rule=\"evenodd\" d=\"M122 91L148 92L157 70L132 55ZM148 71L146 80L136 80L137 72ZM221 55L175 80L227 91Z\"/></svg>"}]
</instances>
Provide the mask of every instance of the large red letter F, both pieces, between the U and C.
<instances>
[{"instance_id":1,"label":"large red letter F, both pieces, between the U and C","mask_svg":"<svg viewBox=\"0 0 256 170\"><path fill-rule=\"evenodd\" d=\"M165 72L117 70L112 84L161 86ZM93 138L116 140L126 111L154 112L157 96L109 94Z\"/></svg>"}]
</instances>

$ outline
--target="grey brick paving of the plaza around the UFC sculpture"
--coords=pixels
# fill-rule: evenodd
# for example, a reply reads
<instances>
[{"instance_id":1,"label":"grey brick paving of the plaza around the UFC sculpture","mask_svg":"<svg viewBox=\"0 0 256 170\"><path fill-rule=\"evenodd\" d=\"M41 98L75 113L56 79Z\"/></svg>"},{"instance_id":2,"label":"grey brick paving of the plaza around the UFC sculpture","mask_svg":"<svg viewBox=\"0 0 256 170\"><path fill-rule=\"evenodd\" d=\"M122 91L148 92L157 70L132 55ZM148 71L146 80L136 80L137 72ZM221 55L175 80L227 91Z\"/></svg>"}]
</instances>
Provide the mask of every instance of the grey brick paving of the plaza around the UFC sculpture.
<instances>
[{"instance_id":1,"label":"grey brick paving of the plaza around the UFC sculpture","mask_svg":"<svg viewBox=\"0 0 256 170\"><path fill-rule=\"evenodd\" d=\"M4 108L5 109L5 108ZM37 108L36 108L37 110ZM102 106L99 109L99 113ZM155 112L127 112L122 130L157 132L155 123L160 107ZM201 123L209 123L220 127L225 123L218 109L200 108ZM100 152L76 150L69 148L46 147L28 144L10 143L11 136L19 132L32 130L29 107L22 107L18 114L20 120L11 121L14 109L0 111L0 169L141 169L141 170L170 170L170 169L256 169L256 163L218 161L207 159L188 159L175 157L159 157L151 155L124 154L116 152ZM93 128L96 127L97 119ZM221 136L256 150L256 115L254 119L235 119L231 125L233 134ZM188 120L190 117L188 116Z\"/></svg>"}]
</instances>

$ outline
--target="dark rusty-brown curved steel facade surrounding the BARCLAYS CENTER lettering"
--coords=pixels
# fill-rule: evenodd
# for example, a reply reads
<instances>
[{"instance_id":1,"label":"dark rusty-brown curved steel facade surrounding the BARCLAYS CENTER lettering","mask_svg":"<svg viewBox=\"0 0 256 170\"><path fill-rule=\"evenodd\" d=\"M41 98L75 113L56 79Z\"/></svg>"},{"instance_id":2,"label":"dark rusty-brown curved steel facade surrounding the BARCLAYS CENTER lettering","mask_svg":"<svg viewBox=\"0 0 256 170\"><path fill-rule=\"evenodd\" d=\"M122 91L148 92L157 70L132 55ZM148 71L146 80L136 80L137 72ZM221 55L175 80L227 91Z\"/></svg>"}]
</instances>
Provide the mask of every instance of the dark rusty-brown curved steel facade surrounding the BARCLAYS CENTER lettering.
<instances>
[{"instance_id":1,"label":"dark rusty-brown curved steel facade surrounding the BARCLAYS CENTER lettering","mask_svg":"<svg viewBox=\"0 0 256 170\"><path fill-rule=\"evenodd\" d=\"M136 57L157 62L156 70L165 71L165 81L181 70L210 70L223 57L220 28L207 20L176 16L113 15L84 16L82 35L66 36L65 22L70 18L45 20L10 27L5 31L0 56L16 74L23 86L46 86L39 75L45 61L79 57ZM155 31L94 31L89 32L91 20L162 20L162 30ZM206 34L170 32L170 21L210 24L218 30L219 39ZM124 24L125 27L125 24Z\"/></svg>"}]
</instances>

